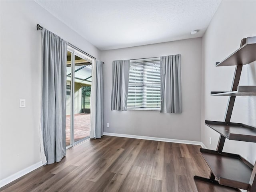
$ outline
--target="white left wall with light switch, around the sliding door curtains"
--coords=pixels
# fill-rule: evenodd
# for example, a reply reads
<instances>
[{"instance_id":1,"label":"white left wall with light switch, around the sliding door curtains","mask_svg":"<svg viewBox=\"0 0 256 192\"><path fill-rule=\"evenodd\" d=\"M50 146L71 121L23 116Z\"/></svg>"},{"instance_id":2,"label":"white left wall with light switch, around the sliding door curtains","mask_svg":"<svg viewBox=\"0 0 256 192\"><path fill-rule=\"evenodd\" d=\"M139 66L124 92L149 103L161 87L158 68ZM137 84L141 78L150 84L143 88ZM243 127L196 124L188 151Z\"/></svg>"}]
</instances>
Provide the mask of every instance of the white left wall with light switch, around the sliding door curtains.
<instances>
[{"instance_id":1,"label":"white left wall with light switch, around the sliding door curtains","mask_svg":"<svg viewBox=\"0 0 256 192\"><path fill-rule=\"evenodd\" d=\"M1 180L40 162L41 32L36 24L94 57L100 51L34 1L0 1L0 23ZM19 99L26 99L26 108L19 108Z\"/></svg>"}]
</instances>

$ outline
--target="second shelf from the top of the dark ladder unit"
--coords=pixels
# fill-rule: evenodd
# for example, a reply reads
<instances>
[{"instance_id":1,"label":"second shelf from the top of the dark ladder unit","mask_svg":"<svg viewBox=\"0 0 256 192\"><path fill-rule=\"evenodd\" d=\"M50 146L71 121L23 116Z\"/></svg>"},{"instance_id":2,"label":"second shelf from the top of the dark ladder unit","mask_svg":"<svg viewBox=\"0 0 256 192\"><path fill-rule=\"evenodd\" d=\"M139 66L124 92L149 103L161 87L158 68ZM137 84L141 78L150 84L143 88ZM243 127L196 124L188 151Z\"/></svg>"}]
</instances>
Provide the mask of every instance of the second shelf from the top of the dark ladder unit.
<instances>
[{"instance_id":1,"label":"second shelf from the top of the dark ladder unit","mask_svg":"<svg viewBox=\"0 0 256 192\"><path fill-rule=\"evenodd\" d=\"M211 95L220 96L256 96L256 86L238 86L237 91L231 92L211 92Z\"/></svg>"}]
</instances>

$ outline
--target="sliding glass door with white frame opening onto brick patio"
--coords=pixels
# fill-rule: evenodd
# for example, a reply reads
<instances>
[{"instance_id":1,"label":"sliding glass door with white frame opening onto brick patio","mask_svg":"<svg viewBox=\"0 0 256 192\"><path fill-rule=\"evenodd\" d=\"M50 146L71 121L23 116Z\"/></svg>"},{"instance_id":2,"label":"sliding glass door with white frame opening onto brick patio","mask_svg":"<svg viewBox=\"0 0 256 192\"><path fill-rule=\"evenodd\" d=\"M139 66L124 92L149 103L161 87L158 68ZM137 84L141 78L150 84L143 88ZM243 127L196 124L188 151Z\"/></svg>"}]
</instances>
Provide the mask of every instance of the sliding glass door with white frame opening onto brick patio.
<instances>
[{"instance_id":1,"label":"sliding glass door with white frame opening onto brick patio","mask_svg":"<svg viewBox=\"0 0 256 192\"><path fill-rule=\"evenodd\" d=\"M92 59L68 46L66 88L66 146L89 138Z\"/></svg>"}]
</instances>

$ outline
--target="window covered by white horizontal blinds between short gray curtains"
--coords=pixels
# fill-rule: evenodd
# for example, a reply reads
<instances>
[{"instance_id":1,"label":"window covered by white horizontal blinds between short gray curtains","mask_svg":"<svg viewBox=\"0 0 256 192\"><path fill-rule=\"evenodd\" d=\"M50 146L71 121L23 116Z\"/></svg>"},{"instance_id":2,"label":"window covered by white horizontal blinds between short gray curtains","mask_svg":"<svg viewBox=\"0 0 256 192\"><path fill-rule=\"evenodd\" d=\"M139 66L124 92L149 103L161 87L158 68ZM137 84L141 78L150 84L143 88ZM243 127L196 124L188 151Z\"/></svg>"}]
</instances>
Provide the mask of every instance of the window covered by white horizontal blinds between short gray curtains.
<instances>
[{"instance_id":1,"label":"window covered by white horizontal blinds between short gray curtains","mask_svg":"<svg viewBox=\"0 0 256 192\"><path fill-rule=\"evenodd\" d=\"M127 109L160 110L160 58L130 60Z\"/></svg>"}]
</instances>

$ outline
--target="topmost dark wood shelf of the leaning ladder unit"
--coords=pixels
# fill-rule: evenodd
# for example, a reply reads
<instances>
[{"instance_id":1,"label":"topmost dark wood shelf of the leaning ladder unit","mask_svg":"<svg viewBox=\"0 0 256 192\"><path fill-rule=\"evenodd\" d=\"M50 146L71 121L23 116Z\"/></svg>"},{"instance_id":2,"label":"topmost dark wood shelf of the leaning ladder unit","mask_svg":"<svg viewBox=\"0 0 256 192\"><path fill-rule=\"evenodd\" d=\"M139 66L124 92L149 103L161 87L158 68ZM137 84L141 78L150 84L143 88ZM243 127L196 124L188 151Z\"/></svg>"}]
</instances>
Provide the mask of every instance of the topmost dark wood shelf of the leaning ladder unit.
<instances>
[{"instance_id":1,"label":"topmost dark wood shelf of the leaning ladder unit","mask_svg":"<svg viewBox=\"0 0 256 192\"><path fill-rule=\"evenodd\" d=\"M238 50L216 63L216 66L245 65L256 60L256 37L246 38L246 43Z\"/></svg>"}]
</instances>

